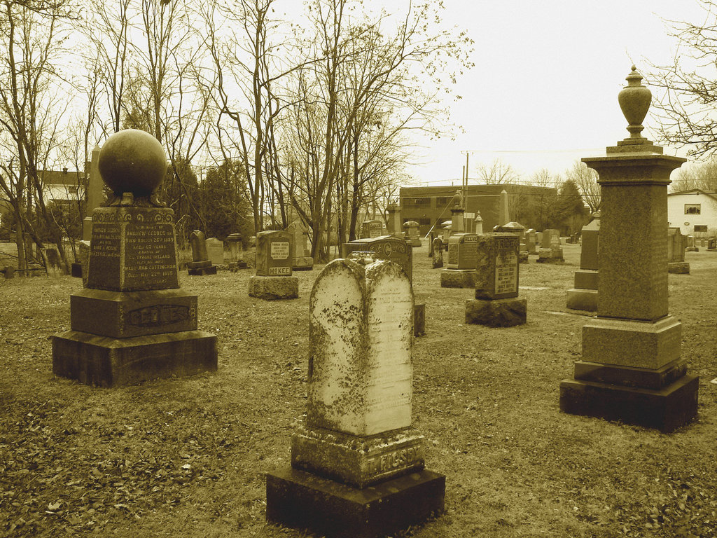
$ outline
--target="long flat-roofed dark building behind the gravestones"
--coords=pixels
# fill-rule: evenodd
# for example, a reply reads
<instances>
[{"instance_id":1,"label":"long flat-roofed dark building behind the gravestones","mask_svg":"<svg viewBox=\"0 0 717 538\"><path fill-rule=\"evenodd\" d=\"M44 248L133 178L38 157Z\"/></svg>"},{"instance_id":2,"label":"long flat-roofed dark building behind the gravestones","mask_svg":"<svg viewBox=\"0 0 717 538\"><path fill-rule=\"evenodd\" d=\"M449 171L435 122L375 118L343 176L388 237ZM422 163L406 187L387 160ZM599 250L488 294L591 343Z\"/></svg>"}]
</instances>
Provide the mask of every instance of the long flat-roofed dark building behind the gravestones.
<instances>
[{"instance_id":1,"label":"long flat-roofed dark building behind the gravestones","mask_svg":"<svg viewBox=\"0 0 717 538\"><path fill-rule=\"evenodd\" d=\"M507 224L507 222L498 222L498 200L503 189L508 193L511 220L518 221L521 220L521 214L527 213L528 204L536 202L541 197L556 197L558 194L558 189L555 187L515 184L468 185L465 190L465 212L469 214L480 212L484 232L489 232L494 226ZM460 190L460 186L402 187L401 218L404 222L407 220L418 222L421 235L426 235L434 225L440 229L441 222L450 220L450 209L454 205L453 197ZM521 222L521 224L526 227L533 225L532 222Z\"/></svg>"}]
</instances>

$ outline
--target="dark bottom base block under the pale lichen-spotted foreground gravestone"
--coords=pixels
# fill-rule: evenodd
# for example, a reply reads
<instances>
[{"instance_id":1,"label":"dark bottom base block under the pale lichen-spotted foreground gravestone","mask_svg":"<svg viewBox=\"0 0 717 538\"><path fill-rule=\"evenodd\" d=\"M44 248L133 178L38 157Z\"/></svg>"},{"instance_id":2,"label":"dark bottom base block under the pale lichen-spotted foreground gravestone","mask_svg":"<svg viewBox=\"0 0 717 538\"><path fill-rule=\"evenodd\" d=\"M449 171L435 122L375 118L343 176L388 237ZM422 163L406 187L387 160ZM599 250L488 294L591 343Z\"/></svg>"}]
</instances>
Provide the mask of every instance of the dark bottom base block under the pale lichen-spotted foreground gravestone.
<instances>
[{"instance_id":1,"label":"dark bottom base block under the pale lichen-spotted foreground gravestone","mask_svg":"<svg viewBox=\"0 0 717 538\"><path fill-rule=\"evenodd\" d=\"M289 468L267 473L267 521L330 538L374 538L442 513L445 476L420 471L364 489Z\"/></svg>"}]
</instances>

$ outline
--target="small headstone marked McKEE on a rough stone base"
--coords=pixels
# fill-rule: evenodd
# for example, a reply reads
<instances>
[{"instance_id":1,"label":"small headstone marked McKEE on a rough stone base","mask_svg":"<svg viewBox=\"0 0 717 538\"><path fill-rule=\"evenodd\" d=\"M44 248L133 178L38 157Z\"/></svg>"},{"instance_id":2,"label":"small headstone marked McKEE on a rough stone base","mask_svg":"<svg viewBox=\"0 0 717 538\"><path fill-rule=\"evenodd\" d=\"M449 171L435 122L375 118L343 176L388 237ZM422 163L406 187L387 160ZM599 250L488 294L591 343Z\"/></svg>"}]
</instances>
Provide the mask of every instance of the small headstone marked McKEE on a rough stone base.
<instances>
[{"instance_id":1,"label":"small headstone marked McKEE on a rough stone base","mask_svg":"<svg viewBox=\"0 0 717 538\"><path fill-rule=\"evenodd\" d=\"M294 241L289 232L257 233L256 270L249 279L249 296L272 301L299 296L299 279L292 276Z\"/></svg>"}]
</instances>

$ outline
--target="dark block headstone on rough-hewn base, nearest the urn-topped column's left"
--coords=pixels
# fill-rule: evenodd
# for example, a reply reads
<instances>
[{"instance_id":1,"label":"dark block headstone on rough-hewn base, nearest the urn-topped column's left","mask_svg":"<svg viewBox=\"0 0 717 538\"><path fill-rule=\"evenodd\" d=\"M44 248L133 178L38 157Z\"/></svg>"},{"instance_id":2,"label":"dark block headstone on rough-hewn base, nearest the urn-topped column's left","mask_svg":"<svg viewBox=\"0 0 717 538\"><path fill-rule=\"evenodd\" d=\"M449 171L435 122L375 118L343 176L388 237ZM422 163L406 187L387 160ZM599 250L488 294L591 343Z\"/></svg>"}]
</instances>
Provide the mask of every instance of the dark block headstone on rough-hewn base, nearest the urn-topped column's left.
<instances>
[{"instance_id":1,"label":"dark block headstone on rough-hewn base, nearest the urn-topped column's left","mask_svg":"<svg viewBox=\"0 0 717 538\"><path fill-rule=\"evenodd\" d=\"M528 301L518 297L518 236L478 236L475 300L465 303L465 323L508 327L526 323Z\"/></svg>"}]
</instances>

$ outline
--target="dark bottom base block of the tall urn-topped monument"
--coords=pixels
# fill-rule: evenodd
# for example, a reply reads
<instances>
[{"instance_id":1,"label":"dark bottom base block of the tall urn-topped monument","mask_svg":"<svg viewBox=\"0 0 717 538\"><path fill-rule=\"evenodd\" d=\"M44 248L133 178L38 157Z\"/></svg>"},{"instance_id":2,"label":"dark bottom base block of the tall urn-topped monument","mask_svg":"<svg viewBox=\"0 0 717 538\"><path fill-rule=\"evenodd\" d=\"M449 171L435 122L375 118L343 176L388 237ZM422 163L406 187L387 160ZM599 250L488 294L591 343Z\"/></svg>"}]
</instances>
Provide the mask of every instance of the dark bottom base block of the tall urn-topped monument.
<instances>
[{"instance_id":1,"label":"dark bottom base block of the tall urn-topped monument","mask_svg":"<svg viewBox=\"0 0 717 538\"><path fill-rule=\"evenodd\" d=\"M671 432L697 415L698 377L685 375L660 390L579 379L560 384L560 410Z\"/></svg>"}]
</instances>

